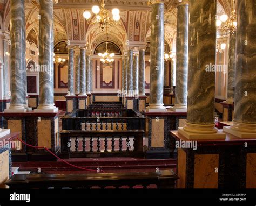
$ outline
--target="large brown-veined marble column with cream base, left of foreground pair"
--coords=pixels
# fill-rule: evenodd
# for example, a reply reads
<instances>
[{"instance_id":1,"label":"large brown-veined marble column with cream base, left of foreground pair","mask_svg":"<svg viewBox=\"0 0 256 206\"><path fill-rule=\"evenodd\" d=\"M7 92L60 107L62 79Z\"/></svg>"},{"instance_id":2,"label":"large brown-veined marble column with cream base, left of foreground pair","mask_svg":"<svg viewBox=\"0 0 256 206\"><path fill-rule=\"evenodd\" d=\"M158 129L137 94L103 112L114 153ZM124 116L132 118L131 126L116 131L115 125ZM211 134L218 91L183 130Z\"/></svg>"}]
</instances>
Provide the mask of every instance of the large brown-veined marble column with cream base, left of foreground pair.
<instances>
[{"instance_id":1,"label":"large brown-veined marble column with cream base, left of foreground pair","mask_svg":"<svg viewBox=\"0 0 256 206\"><path fill-rule=\"evenodd\" d=\"M222 139L215 127L216 1L190 0L188 29L187 120L179 133L187 139Z\"/></svg>"}]
</instances>

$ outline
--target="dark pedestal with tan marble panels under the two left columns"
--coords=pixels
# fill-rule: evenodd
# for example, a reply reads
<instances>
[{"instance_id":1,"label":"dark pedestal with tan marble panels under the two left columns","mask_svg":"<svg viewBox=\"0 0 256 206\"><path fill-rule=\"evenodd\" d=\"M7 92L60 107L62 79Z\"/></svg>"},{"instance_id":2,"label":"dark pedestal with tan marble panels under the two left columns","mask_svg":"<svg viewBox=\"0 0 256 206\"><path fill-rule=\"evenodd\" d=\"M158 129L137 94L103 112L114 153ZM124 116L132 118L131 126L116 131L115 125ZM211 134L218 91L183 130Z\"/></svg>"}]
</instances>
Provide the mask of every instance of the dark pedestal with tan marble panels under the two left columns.
<instances>
[{"instance_id":1,"label":"dark pedestal with tan marble panels under the two left columns","mask_svg":"<svg viewBox=\"0 0 256 206\"><path fill-rule=\"evenodd\" d=\"M4 118L4 128L11 133L19 132L18 137L26 143L34 146L47 147L58 154L60 149L59 122L60 112L38 113L34 111L25 113L1 112ZM24 146L21 150L12 151L13 161L55 161L49 152L44 149Z\"/></svg>"}]
</instances>

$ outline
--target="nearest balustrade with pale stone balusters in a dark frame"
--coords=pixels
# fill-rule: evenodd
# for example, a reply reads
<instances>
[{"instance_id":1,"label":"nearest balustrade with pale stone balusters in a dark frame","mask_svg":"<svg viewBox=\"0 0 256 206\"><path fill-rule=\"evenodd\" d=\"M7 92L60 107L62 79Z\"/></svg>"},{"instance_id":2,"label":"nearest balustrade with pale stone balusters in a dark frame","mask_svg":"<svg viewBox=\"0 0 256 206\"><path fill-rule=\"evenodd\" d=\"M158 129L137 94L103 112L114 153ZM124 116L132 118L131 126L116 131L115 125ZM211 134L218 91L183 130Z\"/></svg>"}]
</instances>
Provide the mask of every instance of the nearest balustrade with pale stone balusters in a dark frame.
<instances>
[{"instance_id":1,"label":"nearest balustrade with pale stone balusters in a dark frame","mask_svg":"<svg viewBox=\"0 0 256 206\"><path fill-rule=\"evenodd\" d=\"M143 157L143 133L144 130L63 130L60 157Z\"/></svg>"}]
</instances>

